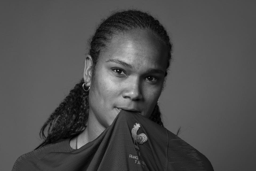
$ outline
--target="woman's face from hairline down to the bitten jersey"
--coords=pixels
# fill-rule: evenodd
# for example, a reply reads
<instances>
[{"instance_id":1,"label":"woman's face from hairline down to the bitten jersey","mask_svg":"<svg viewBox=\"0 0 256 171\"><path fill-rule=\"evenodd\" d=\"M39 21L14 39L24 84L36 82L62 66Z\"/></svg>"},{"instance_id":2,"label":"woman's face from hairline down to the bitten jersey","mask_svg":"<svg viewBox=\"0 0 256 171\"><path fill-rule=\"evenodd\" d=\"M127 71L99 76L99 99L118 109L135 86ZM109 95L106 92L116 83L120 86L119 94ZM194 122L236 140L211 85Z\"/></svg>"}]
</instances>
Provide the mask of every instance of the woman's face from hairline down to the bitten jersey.
<instances>
[{"instance_id":1,"label":"woman's face from hairline down to the bitten jersey","mask_svg":"<svg viewBox=\"0 0 256 171\"><path fill-rule=\"evenodd\" d=\"M148 118L161 94L167 62L167 48L150 31L114 36L95 66L89 117L105 128L120 109Z\"/></svg>"}]
</instances>

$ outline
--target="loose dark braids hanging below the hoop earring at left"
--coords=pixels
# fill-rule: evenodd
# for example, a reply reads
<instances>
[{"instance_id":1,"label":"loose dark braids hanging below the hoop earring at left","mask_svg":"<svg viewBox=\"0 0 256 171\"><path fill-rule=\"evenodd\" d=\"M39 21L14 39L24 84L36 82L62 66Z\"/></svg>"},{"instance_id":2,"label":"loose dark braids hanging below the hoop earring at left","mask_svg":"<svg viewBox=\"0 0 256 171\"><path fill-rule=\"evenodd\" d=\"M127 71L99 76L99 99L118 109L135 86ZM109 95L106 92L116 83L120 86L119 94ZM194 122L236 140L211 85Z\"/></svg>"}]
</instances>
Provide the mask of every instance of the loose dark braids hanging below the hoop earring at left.
<instances>
[{"instance_id":1,"label":"loose dark braids hanging below the hoop earring at left","mask_svg":"<svg viewBox=\"0 0 256 171\"><path fill-rule=\"evenodd\" d=\"M89 92L83 90L83 82L82 78L43 124L39 135L45 140L39 147L77 135L86 127ZM47 126L46 137L44 131Z\"/></svg>"}]
</instances>

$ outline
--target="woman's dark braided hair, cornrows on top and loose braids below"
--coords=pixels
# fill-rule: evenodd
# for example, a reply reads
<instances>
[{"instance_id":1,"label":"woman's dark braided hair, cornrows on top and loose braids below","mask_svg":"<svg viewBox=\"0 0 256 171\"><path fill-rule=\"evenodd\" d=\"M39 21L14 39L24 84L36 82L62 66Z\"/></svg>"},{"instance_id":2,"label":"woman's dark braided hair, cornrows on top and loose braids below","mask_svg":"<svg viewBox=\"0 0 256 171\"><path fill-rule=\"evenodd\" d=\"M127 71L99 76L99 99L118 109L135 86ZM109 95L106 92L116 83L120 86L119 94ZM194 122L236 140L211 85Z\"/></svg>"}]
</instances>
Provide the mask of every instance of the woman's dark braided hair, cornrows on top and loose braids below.
<instances>
[{"instance_id":1,"label":"woman's dark braided hair, cornrows on top and loose braids below","mask_svg":"<svg viewBox=\"0 0 256 171\"><path fill-rule=\"evenodd\" d=\"M129 32L134 29L150 30L166 45L168 49L168 69L171 61L172 45L165 28L157 19L145 12L128 10L116 12L103 20L94 36L91 38L89 54L92 58L92 77L99 53L102 49L107 47L111 38L120 32ZM167 75L167 69L165 76ZM86 128L89 115L89 92L83 90L83 82L83 79L81 79L80 82L75 85L43 124L39 135L44 141L37 148L55 143L59 139L71 138L80 134ZM158 105L155 105L149 119L163 126ZM47 135L44 133L46 130Z\"/></svg>"}]
</instances>

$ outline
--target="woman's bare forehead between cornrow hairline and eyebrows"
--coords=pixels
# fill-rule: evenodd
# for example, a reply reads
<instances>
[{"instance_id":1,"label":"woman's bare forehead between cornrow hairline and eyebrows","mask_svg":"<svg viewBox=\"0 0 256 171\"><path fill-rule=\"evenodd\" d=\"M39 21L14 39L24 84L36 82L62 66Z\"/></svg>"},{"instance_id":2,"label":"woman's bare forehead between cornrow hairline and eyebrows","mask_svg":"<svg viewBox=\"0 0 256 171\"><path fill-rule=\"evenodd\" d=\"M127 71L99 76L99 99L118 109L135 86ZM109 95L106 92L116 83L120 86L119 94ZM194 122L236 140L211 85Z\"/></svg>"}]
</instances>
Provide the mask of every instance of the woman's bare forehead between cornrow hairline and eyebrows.
<instances>
[{"instance_id":1,"label":"woman's bare forehead between cornrow hairline and eyebrows","mask_svg":"<svg viewBox=\"0 0 256 171\"><path fill-rule=\"evenodd\" d=\"M119 59L135 68L142 66L166 69L168 52L165 44L148 30L120 33L111 39L99 55L99 61Z\"/></svg>"}]
</instances>

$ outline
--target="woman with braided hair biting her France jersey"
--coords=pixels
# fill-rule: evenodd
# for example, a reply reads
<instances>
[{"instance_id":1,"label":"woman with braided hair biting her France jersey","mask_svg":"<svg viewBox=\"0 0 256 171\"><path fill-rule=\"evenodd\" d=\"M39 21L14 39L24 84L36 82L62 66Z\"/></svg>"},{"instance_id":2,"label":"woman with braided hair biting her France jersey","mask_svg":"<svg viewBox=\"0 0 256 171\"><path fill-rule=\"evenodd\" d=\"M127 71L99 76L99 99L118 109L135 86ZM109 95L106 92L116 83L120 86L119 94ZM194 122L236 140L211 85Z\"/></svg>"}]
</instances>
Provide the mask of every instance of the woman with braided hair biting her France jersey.
<instances>
[{"instance_id":1,"label":"woman with braided hair biting her France jersey","mask_svg":"<svg viewBox=\"0 0 256 171\"><path fill-rule=\"evenodd\" d=\"M13 170L213 170L163 127L157 103L171 52L165 28L147 13L122 11L104 20L83 79L41 128L43 143Z\"/></svg>"}]
</instances>

